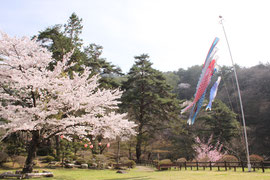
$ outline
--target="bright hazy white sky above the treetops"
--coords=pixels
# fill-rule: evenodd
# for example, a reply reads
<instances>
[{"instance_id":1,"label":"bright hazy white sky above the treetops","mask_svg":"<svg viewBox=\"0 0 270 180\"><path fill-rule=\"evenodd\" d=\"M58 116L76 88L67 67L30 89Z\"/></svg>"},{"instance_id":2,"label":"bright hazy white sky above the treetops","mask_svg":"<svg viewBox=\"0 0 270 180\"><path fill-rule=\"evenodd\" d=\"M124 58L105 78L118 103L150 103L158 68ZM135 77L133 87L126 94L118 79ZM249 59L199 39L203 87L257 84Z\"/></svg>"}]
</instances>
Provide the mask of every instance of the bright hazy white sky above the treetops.
<instances>
[{"instance_id":1,"label":"bright hazy white sky above the treetops","mask_svg":"<svg viewBox=\"0 0 270 180\"><path fill-rule=\"evenodd\" d=\"M0 30L33 36L83 19L84 45L104 47L103 57L128 72L134 56L147 53L153 67L176 71L201 65L215 37L218 64L231 65L219 15L235 63L270 62L270 1L267 0L2 0Z\"/></svg>"}]
</instances>

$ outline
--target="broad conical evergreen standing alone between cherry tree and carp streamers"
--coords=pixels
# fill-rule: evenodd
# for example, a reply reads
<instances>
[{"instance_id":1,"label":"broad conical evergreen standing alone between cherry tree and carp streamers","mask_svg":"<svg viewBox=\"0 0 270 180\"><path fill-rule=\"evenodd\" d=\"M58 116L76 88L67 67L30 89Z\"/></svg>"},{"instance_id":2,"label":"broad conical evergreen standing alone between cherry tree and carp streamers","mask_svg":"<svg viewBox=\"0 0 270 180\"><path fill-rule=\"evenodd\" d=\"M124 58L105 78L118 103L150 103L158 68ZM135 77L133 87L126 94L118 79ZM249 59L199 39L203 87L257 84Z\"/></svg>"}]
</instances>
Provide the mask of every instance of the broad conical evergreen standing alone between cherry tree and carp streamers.
<instances>
[{"instance_id":1,"label":"broad conical evergreen standing alone between cherry tree and carp streamers","mask_svg":"<svg viewBox=\"0 0 270 180\"><path fill-rule=\"evenodd\" d=\"M177 119L178 103L172 88L158 70L153 69L149 56L135 57L135 64L123 83L122 108L138 124L136 157L140 161L142 144L160 130L168 127L171 119Z\"/></svg>"}]
</instances>

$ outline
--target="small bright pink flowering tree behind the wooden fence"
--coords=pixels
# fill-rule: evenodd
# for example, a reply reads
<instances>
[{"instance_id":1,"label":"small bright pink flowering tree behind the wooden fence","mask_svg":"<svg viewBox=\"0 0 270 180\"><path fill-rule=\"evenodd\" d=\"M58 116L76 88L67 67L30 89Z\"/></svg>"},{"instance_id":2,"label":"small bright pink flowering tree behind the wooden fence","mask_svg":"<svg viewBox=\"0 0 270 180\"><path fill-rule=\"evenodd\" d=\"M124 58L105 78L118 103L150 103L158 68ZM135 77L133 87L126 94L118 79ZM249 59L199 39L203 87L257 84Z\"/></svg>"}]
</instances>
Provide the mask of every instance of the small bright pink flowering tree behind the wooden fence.
<instances>
[{"instance_id":1,"label":"small bright pink flowering tree behind the wooden fence","mask_svg":"<svg viewBox=\"0 0 270 180\"><path fill-rule=\"evenodd\" d=\"M215 146L211 144L212 139L213 135L210 136L207 143L203 143L199 137L196 137L196 145L194 146L194 150L197 153L195 157L197 161L216 162L221 159L224 154L226 154L221 152L223 145L220 144L219 141Z\"/></svg>"}]
</instances>

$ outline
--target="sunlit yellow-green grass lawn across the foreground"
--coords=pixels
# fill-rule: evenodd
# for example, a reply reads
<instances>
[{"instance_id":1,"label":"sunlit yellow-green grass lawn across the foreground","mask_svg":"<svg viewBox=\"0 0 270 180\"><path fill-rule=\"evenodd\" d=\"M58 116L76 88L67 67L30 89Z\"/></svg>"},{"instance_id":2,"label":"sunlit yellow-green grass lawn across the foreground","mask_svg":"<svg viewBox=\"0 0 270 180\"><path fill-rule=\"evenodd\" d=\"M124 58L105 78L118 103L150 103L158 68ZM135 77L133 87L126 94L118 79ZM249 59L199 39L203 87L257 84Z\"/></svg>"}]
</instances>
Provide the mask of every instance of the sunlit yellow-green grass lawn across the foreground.
<instances>
[{"instance_id":1,"label":"sunlit yellow-green grass lawn across the foreground","mask_svg":"<svg viewBox=\"0 0 270 180\"><path fill-rule=\"evenodd\" d=\"M46 170L46 169L44 169ZM33 178L41 180L270 180L270 170L262 173L261 170L256 172L242 172L238 169L232 171L217 171L217 170L169 170L156 171L136 167L132 170L127 170L126 174L118 174L115 170L88 170L88 169L47 169L52 171L54 178ZM0 173L7 170L0 170Z\"/></svg>"}]
</instances>

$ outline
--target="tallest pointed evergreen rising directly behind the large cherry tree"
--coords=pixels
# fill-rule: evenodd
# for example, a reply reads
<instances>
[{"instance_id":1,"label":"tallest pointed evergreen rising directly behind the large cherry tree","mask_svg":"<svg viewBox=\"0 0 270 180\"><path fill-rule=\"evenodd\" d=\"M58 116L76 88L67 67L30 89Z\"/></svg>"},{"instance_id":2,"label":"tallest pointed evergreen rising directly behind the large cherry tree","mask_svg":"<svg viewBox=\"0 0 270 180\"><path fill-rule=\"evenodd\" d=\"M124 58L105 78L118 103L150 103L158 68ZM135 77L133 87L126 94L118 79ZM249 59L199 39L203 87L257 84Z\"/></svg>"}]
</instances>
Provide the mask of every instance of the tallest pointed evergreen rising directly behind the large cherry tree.
<instances>
[{"instance_id":1,"label":"tallest pointed evergreen rising directly behind the large cherry tree","mask_svg":"<svg viewBox=\"0 0 270 180\"><path fill-rule=\"evenodd\" d=\"M62 25L55 25L47 28L45 31L41 31L38 35L38 40L42 42L43 46L47 47L52 53L53 58L56 61L62 61L63 56L73 51L69 63L75 63L69 69L69 73L82 72L83 59L85 55L81 52L82 39L79 35L82 33L83 26L81 25L82 19L72 13L68 19L68 23L64 25L64 31ZM50 69L52 70L56 62L50 63Z\"/></svg>"}]
</instances>

